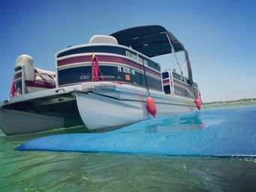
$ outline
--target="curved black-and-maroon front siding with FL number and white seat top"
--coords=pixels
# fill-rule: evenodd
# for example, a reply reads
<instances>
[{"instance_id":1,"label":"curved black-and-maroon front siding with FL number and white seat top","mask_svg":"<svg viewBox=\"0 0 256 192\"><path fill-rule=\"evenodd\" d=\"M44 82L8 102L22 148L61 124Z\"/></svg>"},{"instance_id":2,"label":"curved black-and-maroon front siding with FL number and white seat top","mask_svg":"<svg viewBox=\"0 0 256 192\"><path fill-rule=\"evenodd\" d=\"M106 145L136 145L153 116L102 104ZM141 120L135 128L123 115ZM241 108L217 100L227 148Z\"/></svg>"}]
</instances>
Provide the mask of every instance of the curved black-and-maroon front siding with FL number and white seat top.
<instances>
[{"instance_id":1,"label":"curved black-and-maroon front siding with FL number and white seat top","mask_svg":"<svg viewBox=\"0 0 256 192\"><path fill-rule=\"evenodd\" d=\"M89 44L56 54L58 86L92 81L92 54L98 58L103 81L133 84L162 91L161 67L146 55L117 43L115 37L96 35ZM146 78L145 78L146 75Z\"/></svg>"}]
</instances>

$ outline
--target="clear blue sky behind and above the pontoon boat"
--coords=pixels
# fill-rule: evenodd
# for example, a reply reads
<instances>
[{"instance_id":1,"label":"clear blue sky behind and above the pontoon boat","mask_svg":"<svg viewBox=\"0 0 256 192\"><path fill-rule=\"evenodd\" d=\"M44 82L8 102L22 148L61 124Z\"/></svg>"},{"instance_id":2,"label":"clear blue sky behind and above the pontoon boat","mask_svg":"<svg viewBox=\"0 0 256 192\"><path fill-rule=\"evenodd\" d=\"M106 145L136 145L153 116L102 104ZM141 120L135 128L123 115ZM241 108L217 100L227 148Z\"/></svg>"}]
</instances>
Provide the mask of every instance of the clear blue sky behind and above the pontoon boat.
<instances>
[{"instance_id":1,"label":"clear blue sky behind and above the pontoon boat","mask_svg":"<svg viewBox=\"0 0 256 192\"><path fill-rule=\"evenodd\" d=\"M55 70L59 50L139 25L163 25L185 45L204 102L256 97L255 10L252 0L0 0L0 100L19 55Z\"/></svg>"}]
</instances>

